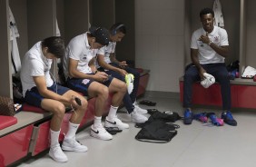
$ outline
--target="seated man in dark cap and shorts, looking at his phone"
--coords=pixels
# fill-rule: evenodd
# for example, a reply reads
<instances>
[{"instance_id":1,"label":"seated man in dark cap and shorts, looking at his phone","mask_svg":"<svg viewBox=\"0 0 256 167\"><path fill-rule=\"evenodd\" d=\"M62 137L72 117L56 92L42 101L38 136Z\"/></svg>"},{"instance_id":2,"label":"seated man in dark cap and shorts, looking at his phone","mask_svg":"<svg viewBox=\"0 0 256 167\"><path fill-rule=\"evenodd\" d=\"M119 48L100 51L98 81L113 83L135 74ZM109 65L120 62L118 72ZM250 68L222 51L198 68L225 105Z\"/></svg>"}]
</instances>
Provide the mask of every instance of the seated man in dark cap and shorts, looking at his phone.
<instances>
[{"instance_id":1,"label":"seated man in dark cap and shorts, looking at his phone","mask_svg":"<svg viewBox=\"0 0 256 167\"><path fill-rule=\"evenodd\" d=\"M105 126L114 126L121 130L129 128L129 124L122 123L116 116L123 95L127 92L126 84L108 74L97 72L94 65L94 57L98 49L108 43L109 34L106 29L90 28L90 32L77 35L70 41L63 61L68 87L84 95L96 97L91 135L102 140L113 139L113 136L106 132L102 125L102 114L109 93L113 94L113 98Z\"/></svg>"}]
</instances>

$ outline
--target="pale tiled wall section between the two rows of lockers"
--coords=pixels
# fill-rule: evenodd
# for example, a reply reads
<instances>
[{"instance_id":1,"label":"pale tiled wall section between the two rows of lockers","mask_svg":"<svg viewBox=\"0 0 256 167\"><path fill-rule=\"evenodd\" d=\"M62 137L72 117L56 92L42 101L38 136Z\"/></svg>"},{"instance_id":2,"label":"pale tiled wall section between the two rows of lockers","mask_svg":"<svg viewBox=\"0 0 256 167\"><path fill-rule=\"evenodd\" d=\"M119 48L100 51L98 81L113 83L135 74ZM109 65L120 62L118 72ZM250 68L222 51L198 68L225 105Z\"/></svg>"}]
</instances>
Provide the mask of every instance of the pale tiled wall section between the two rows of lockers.
<instances>
[{"instance_id":1,"label":"pale tiled wall section between the two rows of lockers","mask_svg":"<svg viewBox=\"0 0 256 167\"><path fill-rule=\"evenodd\" d=\"M135 62L151 70L149 91L179 92L184 69L184 1L135 1Z\"/></svg>"}]
</instances>

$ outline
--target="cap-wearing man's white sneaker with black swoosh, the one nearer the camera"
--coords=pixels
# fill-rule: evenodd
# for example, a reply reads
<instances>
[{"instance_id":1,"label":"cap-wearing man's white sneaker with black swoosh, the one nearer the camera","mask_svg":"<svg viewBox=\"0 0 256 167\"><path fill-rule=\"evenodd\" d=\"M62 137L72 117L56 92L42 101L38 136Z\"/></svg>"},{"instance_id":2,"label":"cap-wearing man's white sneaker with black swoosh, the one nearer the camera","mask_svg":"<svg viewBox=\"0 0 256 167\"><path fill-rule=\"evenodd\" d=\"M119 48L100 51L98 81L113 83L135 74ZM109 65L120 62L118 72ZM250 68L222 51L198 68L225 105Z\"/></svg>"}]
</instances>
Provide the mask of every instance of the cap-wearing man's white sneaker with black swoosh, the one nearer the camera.
<instances>
[{"instance_id":1,"label":"cap-wearing man's white sneaker with black swoosh, the one nearer the camera","mask_svg":"<svg viewBox=\"0 0 256 167\"><path fill-rule=\"evenodd\" d=\"M100 127L94 127L94 124L91 126L91 136L103 141L109 141L113 139L113 136L103 128L102 124Z\"/></svg>"}]
</instances>

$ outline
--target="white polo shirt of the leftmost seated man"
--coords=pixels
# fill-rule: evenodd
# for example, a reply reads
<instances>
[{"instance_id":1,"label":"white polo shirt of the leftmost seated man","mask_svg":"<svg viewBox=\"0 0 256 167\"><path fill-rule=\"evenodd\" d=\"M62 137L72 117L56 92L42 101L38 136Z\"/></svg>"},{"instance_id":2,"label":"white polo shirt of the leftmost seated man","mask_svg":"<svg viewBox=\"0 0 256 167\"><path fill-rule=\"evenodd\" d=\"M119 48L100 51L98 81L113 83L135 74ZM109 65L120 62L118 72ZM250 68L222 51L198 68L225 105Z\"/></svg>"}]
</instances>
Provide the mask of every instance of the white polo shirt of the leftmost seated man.
<instances>
[{"instance_id":1,"label":"white polo shirt of the leftmost seated man","mask_svg":"<svg viewBox=\"0 0 256 167\"><path fill-rule=\"evenodd\" d=\"M34 46L25 54L21 69L21 82L23 86L23 95L35 85L34 76L44 76L46 86L50 87L54 81L50 75L52 59L47 59L42 52L42 42L34 44Z\"/></svg>"}]
</instances>

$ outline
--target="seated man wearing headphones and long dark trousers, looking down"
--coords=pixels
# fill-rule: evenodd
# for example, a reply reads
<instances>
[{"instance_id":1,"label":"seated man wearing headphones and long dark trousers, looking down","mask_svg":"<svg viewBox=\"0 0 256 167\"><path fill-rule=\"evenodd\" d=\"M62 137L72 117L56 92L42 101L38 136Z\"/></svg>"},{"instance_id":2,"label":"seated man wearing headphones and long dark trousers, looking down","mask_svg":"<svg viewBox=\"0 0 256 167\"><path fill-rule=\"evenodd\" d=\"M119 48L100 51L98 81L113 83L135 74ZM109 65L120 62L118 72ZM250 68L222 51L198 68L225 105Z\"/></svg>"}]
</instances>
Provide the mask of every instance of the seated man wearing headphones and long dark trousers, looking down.
<instances>
[{"instance_id":1,"label":"seated man wearing headphones and long dark trousers, looking down","mask_svg":"<svg viewBox=\"0 0 256 167\"><path fill-rule=\"evenodd\" d=\"M125 93L123 97L123 104L131 114L132 121L134 123L144 123L148 120L143 113L147 113L146 110L140 108L136 103L136 95L138 92L140 74L136 69L130 68L125 61L119 62L115 58L115 45L116 42L120 42L126 34L126 28L124 25L118 23L114 24L110 28L110 43L103 46L97 55L98 69L104 71L106 74L112 75L119 80L125 82L126 74L133 74L133 92L129 95ZM101 67L101 68L100 68Z\"/></svg>"}]
</instances>

